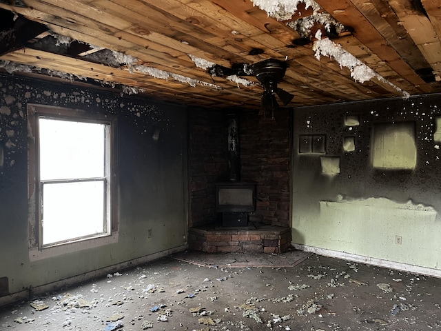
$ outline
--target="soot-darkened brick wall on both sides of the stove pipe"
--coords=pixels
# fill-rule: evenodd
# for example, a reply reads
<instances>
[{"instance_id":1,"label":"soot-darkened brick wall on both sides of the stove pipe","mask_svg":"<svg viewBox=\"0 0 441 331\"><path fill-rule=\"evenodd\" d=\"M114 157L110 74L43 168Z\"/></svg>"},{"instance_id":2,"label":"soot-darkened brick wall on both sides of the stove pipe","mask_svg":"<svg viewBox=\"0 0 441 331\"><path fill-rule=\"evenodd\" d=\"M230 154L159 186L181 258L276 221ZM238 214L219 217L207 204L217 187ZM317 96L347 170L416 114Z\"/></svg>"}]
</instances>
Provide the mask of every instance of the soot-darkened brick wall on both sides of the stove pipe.
<instances>
[{"instance_id":1,"label":"soot-darkened brick wall on both sides of the stove pipe","mask_svg":"<svg viewBox=\"0 0 441 331\"><path fill-rule=\"evenodd\" d=\"M227 112L189 112L190 226L214 221L215 187L228 176ZM251 221L289 226L291 185L291 110L278 110L274 120L257 112L239 115L241 180L257 183L257 208Z\"/></svg>"}]
</instances>

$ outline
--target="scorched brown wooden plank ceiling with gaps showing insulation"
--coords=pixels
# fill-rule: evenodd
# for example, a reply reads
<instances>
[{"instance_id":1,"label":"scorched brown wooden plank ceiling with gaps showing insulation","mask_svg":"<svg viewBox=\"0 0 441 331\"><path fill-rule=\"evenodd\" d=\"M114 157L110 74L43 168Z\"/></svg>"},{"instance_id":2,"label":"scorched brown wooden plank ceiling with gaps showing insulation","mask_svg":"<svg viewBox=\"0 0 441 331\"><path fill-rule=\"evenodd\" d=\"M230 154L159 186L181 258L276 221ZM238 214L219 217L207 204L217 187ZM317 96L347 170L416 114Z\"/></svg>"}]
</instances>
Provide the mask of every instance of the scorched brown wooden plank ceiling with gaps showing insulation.
<instances>
[{"instance_id":1,"label":"scorched brown wooden plank ceiling with gaps showing insulation","mask_svg":"<svg viewBox=\"0 0 441 331\"><path fill-rule=\"evenodd\" d=\"M441 91L438 0L253 1L0 0L0 68L215 108L259 109L270 58L289 107Z\"/></svg>"}]
</instances>

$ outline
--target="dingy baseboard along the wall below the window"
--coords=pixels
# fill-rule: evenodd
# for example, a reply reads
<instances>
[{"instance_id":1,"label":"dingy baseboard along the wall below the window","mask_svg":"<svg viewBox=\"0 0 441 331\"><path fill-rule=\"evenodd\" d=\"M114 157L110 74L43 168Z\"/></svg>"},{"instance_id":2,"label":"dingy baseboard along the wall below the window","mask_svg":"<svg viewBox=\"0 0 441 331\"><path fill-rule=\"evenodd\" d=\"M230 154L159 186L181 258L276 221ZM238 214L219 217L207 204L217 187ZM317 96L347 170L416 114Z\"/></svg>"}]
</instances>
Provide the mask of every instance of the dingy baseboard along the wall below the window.
<instances>
[{"instance_id":1,"label":"dingy baseboard along the wall below the window","mask_svg":"<svg viewBox=\"0 0 441 331\"><path fill-rule=\"evenodd\" d=\"M168 250L163 250L161 252L156 252L154 254L146 255L145 257L139 257L137 259L132 259L114 265L109 265L108 267L105 268L93 270L90 272L85 272L84 274L78 274L76 276L69 277L66 279L60 279L59 281L54 281L52 283L39 285L34 288L23 290L21 292L12 293L4 297L0 297L0 307L4 305L10 305L18 301L29 300L32 299L32 297L35 297L40 294L45 294L48 292L59 290L60 288L73 286L79 283L83 283L85 281L91 281L92 279L103 277L109 273L117 272L127 268L132 268L136 265L141 265L143 263L161 259L162 257L167 257L167 255L174 254L177 252L182 252L183 250L187 250L187 248L188 245L181 245L175 248L170 248Z\"/></svg>"}]
</instances>

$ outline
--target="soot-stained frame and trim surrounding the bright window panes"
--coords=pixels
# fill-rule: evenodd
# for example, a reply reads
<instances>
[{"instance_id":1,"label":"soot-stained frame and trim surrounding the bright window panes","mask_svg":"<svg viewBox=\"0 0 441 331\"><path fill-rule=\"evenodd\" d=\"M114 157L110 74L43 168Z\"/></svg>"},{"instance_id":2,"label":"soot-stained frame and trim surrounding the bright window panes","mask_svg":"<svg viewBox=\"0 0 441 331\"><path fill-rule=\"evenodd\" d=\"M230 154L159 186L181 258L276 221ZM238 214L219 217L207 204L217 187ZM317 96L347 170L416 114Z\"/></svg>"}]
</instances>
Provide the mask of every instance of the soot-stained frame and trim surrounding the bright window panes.
<instances>
[{"instance_id":1,"label":"soot-stained frame and trim surrounding the bright window panes","mask_svg":"<svg viewBox=\"0 0 441 331\"><path fill-rule=\"evenodd\" d=\"M28 219L29 219L29 248L30 259L42 259L57 256L76 250L94 248L118 241L118 212L117 212L117 123L116 117L108 114L90 114L85 110L28 104ZM105 214L108 228L100 234L68 239L57 243L43 245L41 222L41 190L42 183L39 178L39 118L55 119L61 121L79 121L84 123L105 124L105 159L109 173L104 174ZM68 182L68 181L66 181Z\"/></svg>"}]
</instances>

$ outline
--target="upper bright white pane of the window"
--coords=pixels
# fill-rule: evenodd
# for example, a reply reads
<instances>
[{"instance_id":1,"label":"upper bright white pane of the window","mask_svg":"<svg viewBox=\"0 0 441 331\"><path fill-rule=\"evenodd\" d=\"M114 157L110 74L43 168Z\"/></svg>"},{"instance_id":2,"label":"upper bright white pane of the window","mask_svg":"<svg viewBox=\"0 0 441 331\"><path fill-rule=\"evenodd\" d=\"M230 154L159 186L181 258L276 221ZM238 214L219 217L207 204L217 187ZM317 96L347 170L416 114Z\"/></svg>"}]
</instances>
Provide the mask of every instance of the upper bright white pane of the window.
<instances>
[{"instance_id":1,"label":"upper bright white pane of the window","mask_svg":"<svg viewBox=\"0 0 441 331\"><path fill-rule=\"evenodd\" d=\"M39 119L40 179L104 177L105 124Z\"/></svg>"}]
</instances>

